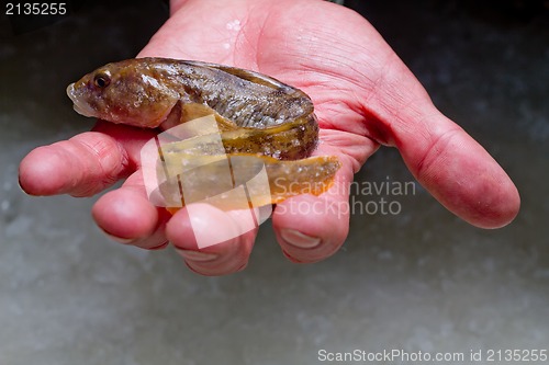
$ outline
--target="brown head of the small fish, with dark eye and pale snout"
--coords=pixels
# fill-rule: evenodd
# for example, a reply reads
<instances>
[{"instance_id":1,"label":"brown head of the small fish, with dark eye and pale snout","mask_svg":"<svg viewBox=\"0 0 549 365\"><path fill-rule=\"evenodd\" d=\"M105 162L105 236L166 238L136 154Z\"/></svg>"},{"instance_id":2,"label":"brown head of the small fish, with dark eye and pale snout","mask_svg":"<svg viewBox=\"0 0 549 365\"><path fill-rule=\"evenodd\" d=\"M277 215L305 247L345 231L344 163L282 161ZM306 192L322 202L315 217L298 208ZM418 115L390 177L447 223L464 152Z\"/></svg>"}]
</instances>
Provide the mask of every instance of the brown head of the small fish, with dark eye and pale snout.
<instances>
[{"instance_id":1,"label":"brown head of the small fish, with dark eye and pale snout","mask_svg":"<svg viewBox=\"0 0 549 365\"><path fill-rule=\"evenodd\" d=\"M161 70L139 59L108 64L67 88L85 116L137 127L157 127L179 100Z\"/></svg>"}]
</instances>

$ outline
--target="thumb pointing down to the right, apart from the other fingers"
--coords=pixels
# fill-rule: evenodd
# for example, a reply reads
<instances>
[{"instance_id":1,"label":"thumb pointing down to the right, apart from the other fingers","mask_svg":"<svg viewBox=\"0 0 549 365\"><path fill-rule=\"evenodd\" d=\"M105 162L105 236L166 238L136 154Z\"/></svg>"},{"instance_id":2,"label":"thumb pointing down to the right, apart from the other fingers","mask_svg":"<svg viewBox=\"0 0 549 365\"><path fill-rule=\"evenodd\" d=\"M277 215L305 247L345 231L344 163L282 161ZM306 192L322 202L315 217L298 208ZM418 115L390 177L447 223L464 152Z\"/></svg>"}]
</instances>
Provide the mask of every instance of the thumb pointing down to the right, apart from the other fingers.
<instances>
[{"instance_id":1,"label":"thumb pointing down to the right, apart from the other fingers","mask_svg":"<svg viewBox=\"0 0 549 365\"><path fill-rule=\"evenodd\" d=\"M445 207L472 225L498 228L518 214L518 191L497 162L442 115L422 122L424 140L400 136L400 151L416 179Z\"/></svg>"}]
</instances>

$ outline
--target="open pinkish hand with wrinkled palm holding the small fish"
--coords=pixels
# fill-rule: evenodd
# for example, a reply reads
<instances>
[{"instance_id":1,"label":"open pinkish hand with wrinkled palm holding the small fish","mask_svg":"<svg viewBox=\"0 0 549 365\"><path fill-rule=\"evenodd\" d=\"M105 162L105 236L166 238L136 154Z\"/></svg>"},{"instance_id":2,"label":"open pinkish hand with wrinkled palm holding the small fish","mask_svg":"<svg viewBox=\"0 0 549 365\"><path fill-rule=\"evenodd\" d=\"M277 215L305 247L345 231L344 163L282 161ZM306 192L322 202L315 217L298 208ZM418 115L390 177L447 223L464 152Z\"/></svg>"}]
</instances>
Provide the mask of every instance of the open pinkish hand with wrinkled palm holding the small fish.
<instances>
[{"instance_id":1,"label":"open pinkish hand with wrinkled palm holding the small fish","mask_svg":"<svg viewBox=\"0 0 549 365\"><path fill-rule=\"evenodd\" d=\"M349 227L344 187L381 145L397 148L417 181L468 223L497 228L516 216L519 196L507 174L433 105L359 14L321 0L173 0L170 9L170 19L139 57L256 70L302 89L315 104L322 128L315 155L338 156L343 168L329 194L301 195L276 207L272 226L291 261L316 262L344 243ZM169 241L200 274L243 270L257 229L199 250L186 209L171 216L147 199L139 149L159 132L99 122L92 132L31 151L20 166L21 186L32 195L90 196L125 179L92 209L109 236L145 249L165 248ZM317 202L341 210L303 215L290 208ZM234 218L226 213L206 205L198 209L201 219L194 229L234 229Z\"/></svg>"}]
</instances>

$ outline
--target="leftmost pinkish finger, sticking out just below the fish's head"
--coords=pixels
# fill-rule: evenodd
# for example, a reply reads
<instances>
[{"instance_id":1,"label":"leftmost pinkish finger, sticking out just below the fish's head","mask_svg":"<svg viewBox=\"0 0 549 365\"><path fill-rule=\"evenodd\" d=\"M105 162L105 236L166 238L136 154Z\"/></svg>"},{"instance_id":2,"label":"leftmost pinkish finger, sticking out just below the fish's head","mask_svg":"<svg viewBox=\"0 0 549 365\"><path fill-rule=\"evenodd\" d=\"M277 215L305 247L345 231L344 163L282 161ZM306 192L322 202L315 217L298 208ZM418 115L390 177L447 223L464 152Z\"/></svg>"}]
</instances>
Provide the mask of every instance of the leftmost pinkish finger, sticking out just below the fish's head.
<instances>
[{"instance_id":1,"label":"leftmost pinkish finger, sticking out just below the fish's head","mask_svg":"<svg viewBox=\"0 0 549 365\"><path fill-rule=\"evenodd\" d=\"M153 137L100 122L94 132L31 151L20 164L20 185L31 195L93 195L134 171L138 147Z\"/></svg>"}]
</instances>

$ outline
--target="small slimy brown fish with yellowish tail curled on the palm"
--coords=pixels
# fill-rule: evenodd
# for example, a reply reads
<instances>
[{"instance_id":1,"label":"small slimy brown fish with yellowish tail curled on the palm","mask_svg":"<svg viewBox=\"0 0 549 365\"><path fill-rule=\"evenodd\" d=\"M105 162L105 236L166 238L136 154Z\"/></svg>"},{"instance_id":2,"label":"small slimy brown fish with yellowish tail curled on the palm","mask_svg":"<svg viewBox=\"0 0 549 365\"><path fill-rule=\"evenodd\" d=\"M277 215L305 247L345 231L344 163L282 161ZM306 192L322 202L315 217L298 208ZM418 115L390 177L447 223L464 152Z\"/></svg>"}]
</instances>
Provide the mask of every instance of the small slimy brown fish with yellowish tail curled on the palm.
<instances>
[{"instance_id":1,"label":"small slimy brown fish with yellowish tail curled on the palm","mask_svg":"<svg viewBox=\"0 0 549 365\"><path fill-rule=\"evenodd\" d=\"M68 85L67 94L79 114L136 127L168 129L214 115L225 153L259 160L270 171L273 195L265 204L304 193L320 195L340 167L336 157L310 157L318 142L318 124L309 95L258 72L136 58L86 75ZM209 155L206 145L192 146L192 153ZM171 161L191 152L186 140L163 150Z\"/></svg>"}]
</instances>

